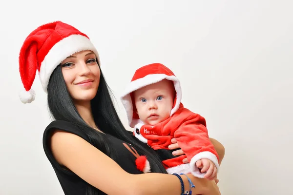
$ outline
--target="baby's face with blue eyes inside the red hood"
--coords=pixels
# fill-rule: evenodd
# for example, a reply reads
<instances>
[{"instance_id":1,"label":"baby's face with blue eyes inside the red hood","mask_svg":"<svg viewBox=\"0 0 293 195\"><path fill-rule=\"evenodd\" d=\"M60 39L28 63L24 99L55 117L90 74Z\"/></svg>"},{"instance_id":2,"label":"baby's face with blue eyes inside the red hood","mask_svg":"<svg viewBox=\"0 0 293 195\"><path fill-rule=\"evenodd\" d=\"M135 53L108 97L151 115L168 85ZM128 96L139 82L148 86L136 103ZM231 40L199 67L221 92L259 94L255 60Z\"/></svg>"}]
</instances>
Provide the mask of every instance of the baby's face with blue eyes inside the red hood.
<instances>
[{"instance_id":1,"label":"baby's face with blue eyes inside the red hood","mask_svg":"<svg viewBox=\"0 0 293 195\"><path fill-rule=\"evenodd\" d=\"M139 118L148 125L156 125L170 116L175 90L173 81L162 80L134 92Z\"/></svg>"}]
</instances>

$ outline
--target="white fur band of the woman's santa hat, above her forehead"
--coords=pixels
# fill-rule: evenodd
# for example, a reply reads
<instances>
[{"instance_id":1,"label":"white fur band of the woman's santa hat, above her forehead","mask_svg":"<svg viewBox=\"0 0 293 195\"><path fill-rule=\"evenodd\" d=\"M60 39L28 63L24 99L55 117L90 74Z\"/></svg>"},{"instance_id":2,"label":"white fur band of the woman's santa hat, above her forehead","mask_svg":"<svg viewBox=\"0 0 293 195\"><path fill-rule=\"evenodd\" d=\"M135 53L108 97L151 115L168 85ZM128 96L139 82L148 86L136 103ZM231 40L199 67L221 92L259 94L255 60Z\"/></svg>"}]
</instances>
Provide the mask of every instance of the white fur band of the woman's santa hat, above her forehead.
<instances>
[{"instance_id":1,"label":"white fur band of the woman's santa hat, above her forehead","mask_svg":"<svg viewBox=\"0 0 293 195\"><path fill-rule=\"evenodd\" d=\"M67 57L84 50L95 53L100 64L99 54L92 42L82 35L71 35L56 43L41 63L40 80L43 90L47 93L47 85L54 69Z\"/></svg>"}]
</instances>

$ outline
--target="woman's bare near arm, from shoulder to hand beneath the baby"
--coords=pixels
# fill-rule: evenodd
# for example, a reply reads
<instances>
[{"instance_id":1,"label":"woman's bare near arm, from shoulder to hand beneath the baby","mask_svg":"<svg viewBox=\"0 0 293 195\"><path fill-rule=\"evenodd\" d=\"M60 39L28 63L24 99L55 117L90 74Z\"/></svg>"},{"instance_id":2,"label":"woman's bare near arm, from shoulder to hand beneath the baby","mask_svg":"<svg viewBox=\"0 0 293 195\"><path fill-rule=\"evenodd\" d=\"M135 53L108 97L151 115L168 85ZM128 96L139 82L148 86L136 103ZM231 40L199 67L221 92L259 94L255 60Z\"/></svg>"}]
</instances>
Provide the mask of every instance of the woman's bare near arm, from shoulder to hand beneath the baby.
<instances>
[{"instance_id":1,"label":"woman's bare near arm, from shoulder to hand beneath the baby","mask_svg":"<svg viewBox=\"0 0 293 195\"><path fill-rule=\"evenodd\" d=\"M56 131L51 138L51 149L56 160L84 181L108 195L180 195L181 184L176 176L168 174L132 175L83 138ZM189 175L190 176L190 175ZM195 195L220 195L214 181L190 176L196 188ZM188 180L182 176L185 189Z\"/></svg>"}]
</instances>

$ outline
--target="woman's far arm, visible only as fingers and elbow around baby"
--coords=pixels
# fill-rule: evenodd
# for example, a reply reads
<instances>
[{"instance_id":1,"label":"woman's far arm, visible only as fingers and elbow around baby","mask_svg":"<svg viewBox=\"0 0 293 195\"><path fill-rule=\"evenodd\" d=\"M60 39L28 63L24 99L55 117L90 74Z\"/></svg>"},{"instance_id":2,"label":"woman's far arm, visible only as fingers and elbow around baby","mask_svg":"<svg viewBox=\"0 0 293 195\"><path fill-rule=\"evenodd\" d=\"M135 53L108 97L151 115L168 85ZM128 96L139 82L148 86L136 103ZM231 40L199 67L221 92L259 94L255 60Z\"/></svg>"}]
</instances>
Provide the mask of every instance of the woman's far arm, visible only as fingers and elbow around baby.
<instances>
[{"instance_id":1,"label":"woman's far arm, visible only as fingers and elbow around baby","mask_svg":"<svg viewBox=\"0 0 293 195\"><path fill-rule=\"evenodd\" d=\"M219 164L221 164L221 162L222 162L222 160L223 160L223 158L225 156L225 148L216 139L209 137L209 140L211 141L212 145L214 146L216 152L218 153L218 155L219 155ZM180 148L175 138L171 139L171 141L172 141L173 144L170 144L169 145L169 149L170 150L179 149ZM175 152L173 152L173 155L174 156L184 155L184 152L181 149L180 150L176 150ZM184 158L183 159L183 162L184 163L188 163L187 158Z\"/></svg>"}]
</instances>

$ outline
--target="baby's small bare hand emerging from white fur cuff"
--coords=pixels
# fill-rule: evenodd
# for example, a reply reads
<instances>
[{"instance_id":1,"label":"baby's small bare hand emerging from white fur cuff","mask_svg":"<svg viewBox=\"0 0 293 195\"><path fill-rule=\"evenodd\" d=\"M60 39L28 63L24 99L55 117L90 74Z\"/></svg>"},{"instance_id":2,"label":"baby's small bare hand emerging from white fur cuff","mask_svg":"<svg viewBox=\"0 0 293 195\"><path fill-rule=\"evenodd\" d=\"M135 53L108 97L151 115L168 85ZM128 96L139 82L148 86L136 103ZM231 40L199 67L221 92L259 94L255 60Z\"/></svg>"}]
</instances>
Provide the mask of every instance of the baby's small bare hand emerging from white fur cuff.
<instances>
[{"instance_id":1,"label":"baby's small bare hand emerging from white fur cuff","mask_svg":"<svg viewBox=\"0 0 293 195\"><path fill-rule=\"evenodd\" d=\"M200 159L196 161L196 167L200 169L201 173L207 172L204 176L206 179L214 180L217 178L217 168L211 160L207 158Z\"/></svg>"}]
</instances>

